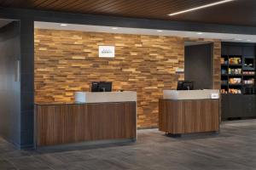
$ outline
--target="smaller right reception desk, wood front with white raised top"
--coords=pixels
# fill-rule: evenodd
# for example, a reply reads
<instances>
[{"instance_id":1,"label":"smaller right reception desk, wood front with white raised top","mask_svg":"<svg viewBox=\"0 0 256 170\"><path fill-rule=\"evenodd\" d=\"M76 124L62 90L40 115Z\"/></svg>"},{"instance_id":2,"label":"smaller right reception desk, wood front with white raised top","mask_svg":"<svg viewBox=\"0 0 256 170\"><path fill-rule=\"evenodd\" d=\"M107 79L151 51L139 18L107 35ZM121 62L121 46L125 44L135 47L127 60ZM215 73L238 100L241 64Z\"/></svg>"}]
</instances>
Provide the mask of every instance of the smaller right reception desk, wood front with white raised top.
<instances>
[{"instance_id":1,"label":"smaller right reception desk, wood front with white raised top","mask_svg":"<svg viewBox=\"0 0 256 170\"><path fill-rule=\"evenodd\" d=\"M164 90L159 100L159 129L170 134L219 130L218 90Z\"/></svg>"}]
</instances>

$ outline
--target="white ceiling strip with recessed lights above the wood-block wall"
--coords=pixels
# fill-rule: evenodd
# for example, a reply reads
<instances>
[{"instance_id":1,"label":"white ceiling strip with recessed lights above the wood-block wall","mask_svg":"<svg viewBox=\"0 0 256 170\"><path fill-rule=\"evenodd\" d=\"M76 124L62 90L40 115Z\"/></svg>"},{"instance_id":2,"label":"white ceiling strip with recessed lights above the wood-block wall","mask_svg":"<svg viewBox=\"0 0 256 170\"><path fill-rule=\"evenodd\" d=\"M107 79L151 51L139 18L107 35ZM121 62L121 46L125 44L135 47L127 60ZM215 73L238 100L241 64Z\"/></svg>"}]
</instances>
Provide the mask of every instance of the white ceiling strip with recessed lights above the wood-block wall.
<instances>
[{"instance_id":1,"label":"white ceiling strip with recessed lights above the wood-block wall","mask_svg":"<svg viewBox=\"0 0 256 170\"><path fill-rule=\"evenodd\" d=\"M252 35L244 35L244 34L154 30L154 29L111 27L111 26L90 26L90 25L76 25L76 24L38 22L38 21L35 22L34 26L35 28L52 29L52 30L91 31L91 32L137 34L137 35L209 38L209 39L220 39L223 42L256 42L256 35L252 36Z\"/></svg>"}]
</instances>

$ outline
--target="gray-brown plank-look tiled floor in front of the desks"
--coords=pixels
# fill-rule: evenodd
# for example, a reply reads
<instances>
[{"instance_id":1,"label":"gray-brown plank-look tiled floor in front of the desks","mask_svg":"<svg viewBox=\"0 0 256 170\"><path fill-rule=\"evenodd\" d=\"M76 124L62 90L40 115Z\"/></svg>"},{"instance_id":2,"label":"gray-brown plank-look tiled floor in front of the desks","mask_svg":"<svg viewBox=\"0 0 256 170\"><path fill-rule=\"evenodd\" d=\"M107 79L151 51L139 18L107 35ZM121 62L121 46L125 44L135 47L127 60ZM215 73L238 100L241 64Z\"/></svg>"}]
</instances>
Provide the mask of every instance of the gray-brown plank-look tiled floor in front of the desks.
<instances>
[{"instance_id":1,"label":"gray-brown plank-look tiled floor in front of the desks","mask_svg":"<svg viewBox=\"0 0 256 170\"><path fill-rule=\"evenodd\" d=\"M0 170L255 170L256 120L224 122L221 133L169 138L138 131L136 144L61 152L15 150L0 139Z\"/></svg>"}]
</instances>

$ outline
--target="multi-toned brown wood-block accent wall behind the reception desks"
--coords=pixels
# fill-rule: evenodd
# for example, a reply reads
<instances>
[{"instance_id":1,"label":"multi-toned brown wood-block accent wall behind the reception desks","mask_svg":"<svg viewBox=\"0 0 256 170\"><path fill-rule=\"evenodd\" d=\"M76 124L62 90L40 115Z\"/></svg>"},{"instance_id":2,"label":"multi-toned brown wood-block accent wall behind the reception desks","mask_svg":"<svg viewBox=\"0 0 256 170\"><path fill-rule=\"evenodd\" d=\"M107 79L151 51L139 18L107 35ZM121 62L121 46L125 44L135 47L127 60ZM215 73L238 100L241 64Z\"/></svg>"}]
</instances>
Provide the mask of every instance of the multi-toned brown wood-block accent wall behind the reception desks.
<instances>
[{"instance_id":1,"label":"multi-toned brown wood-block accent wall behind the reception desks","mask_svg":"<svg viewBox=\"0 0 256 170\"><path fill-rule=\"evenodd\" d=\"M163 89L183 80L182 37L35 29L35 102L72 102L94 81L113 90L137 91L137 127L158 127ZM99 58L99 45L115 46L115 58Z\"/></svg>"}]
</instances>

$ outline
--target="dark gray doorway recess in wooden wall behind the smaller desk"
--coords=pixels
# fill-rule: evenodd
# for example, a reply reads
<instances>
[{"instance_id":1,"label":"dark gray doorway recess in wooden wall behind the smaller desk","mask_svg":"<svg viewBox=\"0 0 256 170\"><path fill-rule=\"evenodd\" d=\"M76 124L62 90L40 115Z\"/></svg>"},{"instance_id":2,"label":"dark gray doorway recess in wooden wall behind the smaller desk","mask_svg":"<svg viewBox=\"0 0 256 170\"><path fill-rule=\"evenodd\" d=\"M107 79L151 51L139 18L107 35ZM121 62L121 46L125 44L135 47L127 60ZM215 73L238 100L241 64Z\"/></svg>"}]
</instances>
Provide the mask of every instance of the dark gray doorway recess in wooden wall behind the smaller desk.
<instances>
[{"instance_id":1,"label":"dark gray doorway recess in wooden wall behind the smaller desk","mask_svg":"<svg viewBox=\"0 0 256 170\"><path fill-rule=\"evenodd\" d=\"M185 80L195 89L212 88L212 43L185 47Z\"/></svg>"}]
</instances>

